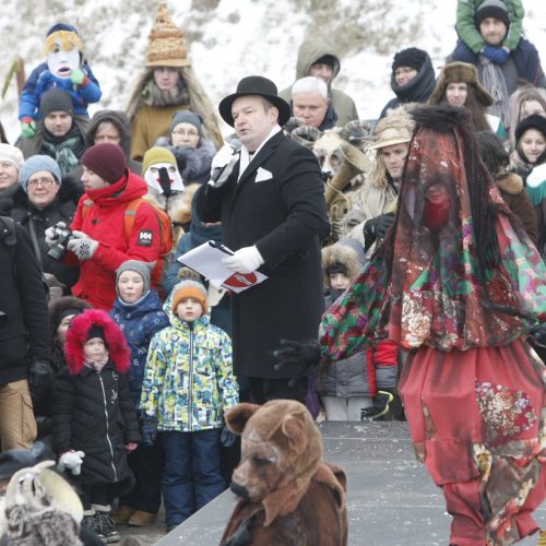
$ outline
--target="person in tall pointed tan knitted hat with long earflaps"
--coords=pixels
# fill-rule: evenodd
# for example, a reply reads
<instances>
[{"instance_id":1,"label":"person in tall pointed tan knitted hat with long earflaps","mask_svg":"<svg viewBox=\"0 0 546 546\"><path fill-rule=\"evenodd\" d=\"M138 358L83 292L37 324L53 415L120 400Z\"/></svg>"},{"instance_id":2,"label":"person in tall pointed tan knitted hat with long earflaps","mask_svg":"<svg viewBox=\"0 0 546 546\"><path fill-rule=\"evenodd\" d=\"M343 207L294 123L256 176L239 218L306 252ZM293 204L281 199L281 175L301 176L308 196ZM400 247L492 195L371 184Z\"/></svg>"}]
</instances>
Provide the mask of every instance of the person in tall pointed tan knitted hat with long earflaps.
<instances>
[{"instance_id":1,"label":"person in tall pointed tan knitted hat with long earflaps","mask_svg":"<svg viewBox=\"0 0 546 546\"><path fill-rule=\"evenodd\" d=\"M159 136L169 133L174 114L186 108L203 118L204 133L223 144L214 107L199 83L182 32L159 3L149 38L146 70L136 82L127 115L132 126L131 158L142 161Z\"/></svg>"}]
</instances>

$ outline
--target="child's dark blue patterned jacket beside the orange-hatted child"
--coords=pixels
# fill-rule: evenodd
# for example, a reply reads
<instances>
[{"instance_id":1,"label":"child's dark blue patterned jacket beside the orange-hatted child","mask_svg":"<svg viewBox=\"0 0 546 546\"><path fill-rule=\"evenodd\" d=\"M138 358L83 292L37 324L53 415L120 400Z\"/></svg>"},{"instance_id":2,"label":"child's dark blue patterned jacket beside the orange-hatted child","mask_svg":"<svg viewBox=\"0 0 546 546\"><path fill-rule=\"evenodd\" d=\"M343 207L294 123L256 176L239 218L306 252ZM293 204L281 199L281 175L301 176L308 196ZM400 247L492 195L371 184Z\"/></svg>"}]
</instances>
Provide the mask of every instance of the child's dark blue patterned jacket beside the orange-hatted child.
<instances>
[{"instance_id":1,"label":"child's dark blue patterned jacket beside the orange-hatted child","mask_svg":"<svg viewBox=\"0 0 546 546\"><path fill-rule=\"evenodd\" d=\"M169 325L169 320L155 290L149 290L134 304L126 304L118 296L110 316L123 332L131 349L129 390L138 410L150 342L156 332Z\"/></svg>"}]
</instances>

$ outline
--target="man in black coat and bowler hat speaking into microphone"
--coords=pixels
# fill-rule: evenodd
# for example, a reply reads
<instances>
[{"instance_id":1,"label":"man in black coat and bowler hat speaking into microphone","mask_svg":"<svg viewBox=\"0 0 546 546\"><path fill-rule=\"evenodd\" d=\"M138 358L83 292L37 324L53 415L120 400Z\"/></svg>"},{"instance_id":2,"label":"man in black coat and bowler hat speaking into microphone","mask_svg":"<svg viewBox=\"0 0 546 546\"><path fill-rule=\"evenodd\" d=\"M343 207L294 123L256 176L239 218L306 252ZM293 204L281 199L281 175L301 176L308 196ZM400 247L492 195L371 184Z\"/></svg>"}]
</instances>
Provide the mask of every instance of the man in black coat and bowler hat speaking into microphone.
<instances>
[{"instance_id":1,"label":"man in black coat and bowler hat speaking into microphone","mask_svg":"<svg viewBox=\"0 0 546 546\"><path fill-rule=\"evenodd\" d=\"M242 79L218 109L241 149L218 152L213 173L218 168L219 176L199 190L198 211L203 222L222 221L224 242L235 251L224 265L268 276L232 296L235 373L257 403L304 401L307 378L289 385L293 372L275 370L273 352L282 339L318 334L324 305L320 237L328 225L320 168L310 151L284 136L290 108L270 80Z\"/></svg>"}]
</instances>

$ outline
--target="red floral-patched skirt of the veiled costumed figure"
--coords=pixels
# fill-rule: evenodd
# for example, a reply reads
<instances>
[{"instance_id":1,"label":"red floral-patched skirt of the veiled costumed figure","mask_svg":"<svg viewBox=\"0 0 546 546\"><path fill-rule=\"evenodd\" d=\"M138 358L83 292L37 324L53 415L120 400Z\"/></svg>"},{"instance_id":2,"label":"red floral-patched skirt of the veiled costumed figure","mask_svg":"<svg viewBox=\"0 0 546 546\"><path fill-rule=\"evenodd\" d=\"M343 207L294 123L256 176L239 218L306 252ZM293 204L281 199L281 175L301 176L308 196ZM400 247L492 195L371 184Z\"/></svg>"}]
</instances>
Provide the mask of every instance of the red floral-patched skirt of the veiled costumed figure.
<instances>
[{"instance_id":1,"label":"red floral-patched skirt of the veiled costumed figure","mask_svg":"<svg viewBox=\"0 0 546 546\"><path fill-rule=\"evenodd\" d=\"M451 544L512 544L537 530L545 494L546 368L523 340L420 347L399 391L416 454L443 488Z\"/></svg>"}]
</instances>

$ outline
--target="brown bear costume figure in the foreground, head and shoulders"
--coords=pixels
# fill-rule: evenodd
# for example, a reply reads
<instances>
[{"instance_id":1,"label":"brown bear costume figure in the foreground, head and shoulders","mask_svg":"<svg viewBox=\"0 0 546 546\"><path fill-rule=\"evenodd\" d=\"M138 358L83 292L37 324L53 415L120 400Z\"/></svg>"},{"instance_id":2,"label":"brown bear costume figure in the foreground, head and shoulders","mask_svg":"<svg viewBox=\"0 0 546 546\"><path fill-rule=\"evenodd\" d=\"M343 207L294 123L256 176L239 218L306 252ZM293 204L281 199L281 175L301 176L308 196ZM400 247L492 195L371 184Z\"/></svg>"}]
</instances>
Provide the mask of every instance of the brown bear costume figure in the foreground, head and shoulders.
<instances>
[{"instance_id":1,"label":"brown bear costume figure in the foreground, head and shoulders","mask_svg":"<svg viewBox=\"0 0 546 546\"><path fill-rule=\"evenodd\" d=\"M232 482L240 500L221 546L346 545L345 473L322 462L322 438L306 406L242 403L225 420L242 439Z\"/></svg>"}]
</instances>

